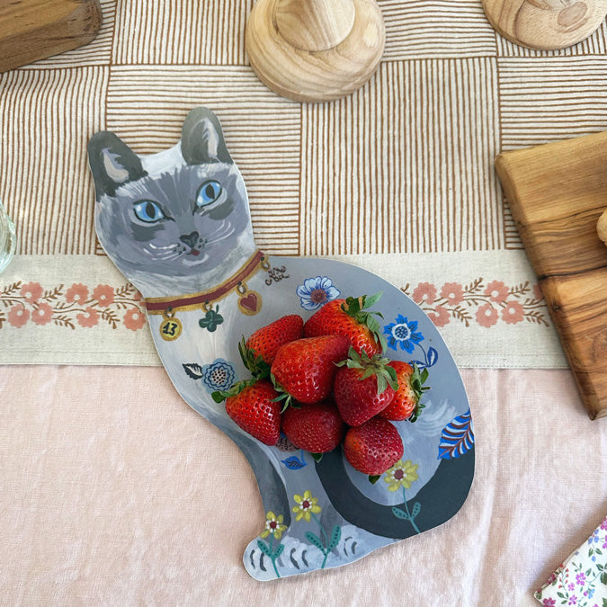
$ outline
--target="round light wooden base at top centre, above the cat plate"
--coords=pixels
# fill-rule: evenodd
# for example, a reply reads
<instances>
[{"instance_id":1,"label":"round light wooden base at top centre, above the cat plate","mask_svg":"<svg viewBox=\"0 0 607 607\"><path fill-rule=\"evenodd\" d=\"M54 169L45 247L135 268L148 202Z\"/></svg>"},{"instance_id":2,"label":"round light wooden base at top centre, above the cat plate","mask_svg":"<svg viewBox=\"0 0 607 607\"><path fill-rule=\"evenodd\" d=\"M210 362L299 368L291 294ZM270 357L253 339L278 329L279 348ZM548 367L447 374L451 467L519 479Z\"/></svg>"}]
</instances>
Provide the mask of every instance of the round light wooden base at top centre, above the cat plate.
<instances>
[{"instance_id":1,"label":"round light wooden base at top centre, above the cat plate","mask_svg":"<svg viewBox=\"0 0 607 607\"><path fill-rule=\"evenodd\" d=\"M245 38L264 85L295 101L325 102L369 80L386 32L375 0L258 0Z\"/></svg>"}]
</instances>

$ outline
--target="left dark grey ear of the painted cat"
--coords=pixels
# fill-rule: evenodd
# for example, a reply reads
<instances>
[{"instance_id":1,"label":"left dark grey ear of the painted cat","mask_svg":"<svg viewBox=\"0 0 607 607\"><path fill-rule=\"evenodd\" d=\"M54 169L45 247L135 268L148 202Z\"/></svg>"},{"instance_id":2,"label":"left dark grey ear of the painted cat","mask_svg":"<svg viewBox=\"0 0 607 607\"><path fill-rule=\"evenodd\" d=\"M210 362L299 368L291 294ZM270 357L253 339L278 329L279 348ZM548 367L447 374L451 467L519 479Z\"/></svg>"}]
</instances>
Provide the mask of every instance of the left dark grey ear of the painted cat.
<instances>
[{"instance_id":1,"label":"left dark grey ear of the painted cat","mask_svg":"<svg viewBox=\"0 0 607 607\"><path fill-rule=\"evenodd\" d=\"M147 175L139 156L121 138L107 130L95 133L88 142L88 162L97 199L103 194L113 196L123 183Z\"/></svg>"}]
</instances>

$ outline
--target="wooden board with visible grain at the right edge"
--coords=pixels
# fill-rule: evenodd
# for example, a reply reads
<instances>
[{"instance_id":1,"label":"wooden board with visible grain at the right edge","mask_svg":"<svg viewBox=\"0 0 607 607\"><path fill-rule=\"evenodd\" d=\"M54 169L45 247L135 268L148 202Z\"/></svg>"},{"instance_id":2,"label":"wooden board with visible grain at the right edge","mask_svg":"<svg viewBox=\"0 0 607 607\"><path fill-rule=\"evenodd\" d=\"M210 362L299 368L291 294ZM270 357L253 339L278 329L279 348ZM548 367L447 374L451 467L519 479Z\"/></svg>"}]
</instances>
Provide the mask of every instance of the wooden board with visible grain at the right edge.
<instances>
[{"instance_id":1,"label":"wooden board with visible grain at the right edge","mask_svg":"<svg viewBox=\"0 0 607 607\"><path fill-rule=\"evenodd\" d=\"M527 254L591 419L607 415L607 132L495 160ZM538 347L541 347L538 344Z\"/></svg>"}]
</instances>

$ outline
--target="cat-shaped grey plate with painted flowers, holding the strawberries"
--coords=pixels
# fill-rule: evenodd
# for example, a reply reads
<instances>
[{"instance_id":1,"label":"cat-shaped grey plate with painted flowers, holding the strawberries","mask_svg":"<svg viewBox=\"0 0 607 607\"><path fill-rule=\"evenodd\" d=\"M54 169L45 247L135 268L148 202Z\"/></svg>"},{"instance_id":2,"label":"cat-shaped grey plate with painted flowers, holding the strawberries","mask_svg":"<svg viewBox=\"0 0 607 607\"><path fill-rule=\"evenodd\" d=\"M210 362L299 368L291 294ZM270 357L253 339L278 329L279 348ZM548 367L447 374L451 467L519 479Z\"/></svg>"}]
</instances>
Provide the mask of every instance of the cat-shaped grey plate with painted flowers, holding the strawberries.
<instances>
[{"instance_id":1,"label":"cat-shaped grey plate with painted flowers, holding the strawberries","mask_svg":"<svg viewBox=\"0 0 607 607\"><path fill-rule=\"evenodd\" d=\"M251 576L338 567L458 512L474 473L468 398L441 335L411 299L350 264L260 252L245 183L205 108L188 114L171 149L139 157L113 133L99 132L89 158L98 237L144 296L166 371L254 470L266 515L245 549ZM395 423L405 452L375 484L341 448L317 463L286 439L274 447L258 442L211 398L250 377L237 349L243 335L286 314L305 320L331 299L377 292L387 356L427 369L431 389L415 423Z\"/></svg>"}]
</instances>

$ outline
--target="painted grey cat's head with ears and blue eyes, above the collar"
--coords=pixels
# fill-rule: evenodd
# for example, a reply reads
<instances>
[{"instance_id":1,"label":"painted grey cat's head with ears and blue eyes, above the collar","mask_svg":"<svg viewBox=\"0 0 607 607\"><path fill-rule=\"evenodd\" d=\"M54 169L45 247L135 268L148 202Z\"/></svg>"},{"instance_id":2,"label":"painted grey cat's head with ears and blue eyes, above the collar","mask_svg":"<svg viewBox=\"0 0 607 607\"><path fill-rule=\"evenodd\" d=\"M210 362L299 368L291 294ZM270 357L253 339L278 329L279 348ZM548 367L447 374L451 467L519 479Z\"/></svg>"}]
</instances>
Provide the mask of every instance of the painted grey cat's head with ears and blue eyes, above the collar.
<instances>
[{"instance_id":1,"label":"painted grey cat's head with ears and blue eyes, above the collar","mask_svg":"<svg viewBox=\"0 0 607 607\"><path fill-rule=\"evenodd\" d=\"M192 110L181 143L165 152L139 158L116 135L100 132L89 142L89 159L97 234L140 289L142 282L208 275L253 245L245 183L209 110ZM187 281L179 285L187 290Z\"/></svg>"}]
</instances>

